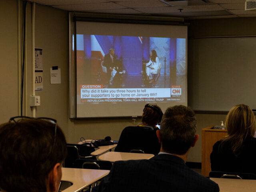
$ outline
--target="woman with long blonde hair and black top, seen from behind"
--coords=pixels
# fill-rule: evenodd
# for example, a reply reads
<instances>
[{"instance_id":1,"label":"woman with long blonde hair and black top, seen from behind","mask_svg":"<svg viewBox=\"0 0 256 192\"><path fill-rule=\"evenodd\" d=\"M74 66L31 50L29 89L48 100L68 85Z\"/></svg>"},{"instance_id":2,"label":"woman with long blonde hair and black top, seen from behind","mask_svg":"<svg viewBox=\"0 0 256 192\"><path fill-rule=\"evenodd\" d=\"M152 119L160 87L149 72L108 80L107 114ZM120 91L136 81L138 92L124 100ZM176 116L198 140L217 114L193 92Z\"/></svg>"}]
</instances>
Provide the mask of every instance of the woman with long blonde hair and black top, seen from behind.
<instances>
[{"instance_id":1,"label":"woman with long blonde hair and black top, seen from behind","mask_svg":"<svg viewBox=\"0 0 256 192\"><path fill-rule=\"evenodd\" d=\"M234 106L226 117L228 135L210 155L212 171L256 173L256 120L249 106Z\"/></svg>"}]
</instances>

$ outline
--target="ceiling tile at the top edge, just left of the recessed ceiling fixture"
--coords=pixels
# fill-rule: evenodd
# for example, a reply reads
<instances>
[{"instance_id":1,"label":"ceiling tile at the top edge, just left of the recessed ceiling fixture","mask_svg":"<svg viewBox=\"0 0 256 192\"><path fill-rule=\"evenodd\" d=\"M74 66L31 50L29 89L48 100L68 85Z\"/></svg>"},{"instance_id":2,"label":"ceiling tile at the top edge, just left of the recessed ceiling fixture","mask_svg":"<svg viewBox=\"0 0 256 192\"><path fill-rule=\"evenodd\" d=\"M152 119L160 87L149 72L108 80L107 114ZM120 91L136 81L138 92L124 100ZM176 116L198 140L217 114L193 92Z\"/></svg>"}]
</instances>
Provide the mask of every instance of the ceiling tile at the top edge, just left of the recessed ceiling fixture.
<instances>
[{"instance_id":1,"label":"ceiling tile at the top edge, just left of the recessed ceiling fixture","mask_svg":"<svg viewBox=\"0 0 256 192\"><path fill-rule=\"evenodd\" d=\"M147 7L166 7L168 4L165 4L156 0L140 0L140 1L125 1L125 2L116 2L125 7L129 8L147 8Z\"/></svg>"}]
</instances>

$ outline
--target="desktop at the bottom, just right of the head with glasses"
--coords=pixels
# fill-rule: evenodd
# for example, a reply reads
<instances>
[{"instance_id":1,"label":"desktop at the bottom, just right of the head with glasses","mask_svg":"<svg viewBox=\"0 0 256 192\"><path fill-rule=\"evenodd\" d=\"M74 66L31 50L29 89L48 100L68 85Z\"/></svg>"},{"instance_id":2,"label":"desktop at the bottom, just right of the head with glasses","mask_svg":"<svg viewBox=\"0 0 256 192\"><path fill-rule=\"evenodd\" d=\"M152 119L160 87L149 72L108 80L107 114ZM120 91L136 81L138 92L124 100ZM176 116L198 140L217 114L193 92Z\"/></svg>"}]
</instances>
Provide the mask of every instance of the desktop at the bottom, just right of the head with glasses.
<instances>
[{"instance_id":1,"label":"desktop at the bottom, just right of the head with glasses","mask_svg":"<svg viewBox=\"0 0 256 192\"><path fill-rule=\"evenodd\" d=\"M109 170L62 168L62 181L73 183L62 192L78 192L106 176Z\"/></svg>"}]
</instances>

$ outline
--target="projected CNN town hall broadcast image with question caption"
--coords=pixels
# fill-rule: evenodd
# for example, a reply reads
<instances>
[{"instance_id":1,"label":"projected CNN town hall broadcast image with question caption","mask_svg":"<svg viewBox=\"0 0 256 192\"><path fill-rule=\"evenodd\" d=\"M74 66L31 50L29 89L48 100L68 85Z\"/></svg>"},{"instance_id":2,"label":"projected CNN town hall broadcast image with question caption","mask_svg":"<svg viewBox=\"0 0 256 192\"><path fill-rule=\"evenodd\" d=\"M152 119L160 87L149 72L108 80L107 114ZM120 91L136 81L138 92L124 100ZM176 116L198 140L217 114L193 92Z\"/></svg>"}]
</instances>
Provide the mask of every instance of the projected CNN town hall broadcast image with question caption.
<instances>
[{"instance_id":1,"label":"projected CNN town hall broadcast image with question caption","mask_svg":"<svg viewBox=\"0 0 256 192\"><path fill-rule=\"evenodd\" d=\"M186 38L76 35L77 104L186 102Z\"/></svg>"}]
</instances>

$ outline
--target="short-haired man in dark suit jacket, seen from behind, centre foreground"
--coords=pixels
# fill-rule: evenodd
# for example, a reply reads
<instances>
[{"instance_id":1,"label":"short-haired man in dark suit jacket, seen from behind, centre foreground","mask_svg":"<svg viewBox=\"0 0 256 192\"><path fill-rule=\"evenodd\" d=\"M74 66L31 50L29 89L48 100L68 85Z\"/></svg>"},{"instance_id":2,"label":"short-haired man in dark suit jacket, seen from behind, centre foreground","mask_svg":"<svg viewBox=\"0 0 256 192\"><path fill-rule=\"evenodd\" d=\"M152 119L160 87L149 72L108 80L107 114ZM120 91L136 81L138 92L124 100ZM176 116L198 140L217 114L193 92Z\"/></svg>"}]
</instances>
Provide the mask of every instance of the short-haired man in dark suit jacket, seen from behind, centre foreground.
<instances>
[{"instance_id":1,"label":"short-haired man in dark suit jacket, seen from behind, centre foreground","mask_svg":"<svg viewBox=\"0 0 256 192\"><path fill-rule=\"evenodd\" d=\"M194 112L185 106L168 108L156 131L161 150L150 160L114 162L99 192L218 192L218 184L185 164L198 140Z\"/></svg>"}]
</instances>

